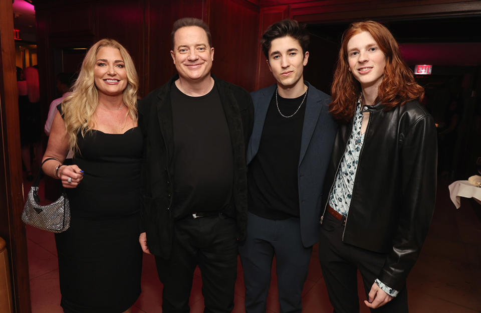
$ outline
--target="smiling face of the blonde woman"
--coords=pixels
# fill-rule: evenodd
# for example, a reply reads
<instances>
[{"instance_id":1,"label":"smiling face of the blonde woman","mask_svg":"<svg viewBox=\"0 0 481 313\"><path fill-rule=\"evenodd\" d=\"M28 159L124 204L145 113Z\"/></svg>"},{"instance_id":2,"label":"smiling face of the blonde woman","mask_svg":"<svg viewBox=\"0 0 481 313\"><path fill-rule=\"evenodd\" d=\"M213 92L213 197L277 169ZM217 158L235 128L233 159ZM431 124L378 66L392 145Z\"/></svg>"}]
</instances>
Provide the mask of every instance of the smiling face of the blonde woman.
<instances>
[{"instance_id":1,"label":"smiling face of the blonde woman","mask_svg":"<svg viewBox=\"0 0 481 313\"><path fill-rule=\"evenodd\" d=\"M119 49L102 47L95 57L94 79L100 93L118 96L127 87L127 71Z\"/></svg>"}]
</instances>

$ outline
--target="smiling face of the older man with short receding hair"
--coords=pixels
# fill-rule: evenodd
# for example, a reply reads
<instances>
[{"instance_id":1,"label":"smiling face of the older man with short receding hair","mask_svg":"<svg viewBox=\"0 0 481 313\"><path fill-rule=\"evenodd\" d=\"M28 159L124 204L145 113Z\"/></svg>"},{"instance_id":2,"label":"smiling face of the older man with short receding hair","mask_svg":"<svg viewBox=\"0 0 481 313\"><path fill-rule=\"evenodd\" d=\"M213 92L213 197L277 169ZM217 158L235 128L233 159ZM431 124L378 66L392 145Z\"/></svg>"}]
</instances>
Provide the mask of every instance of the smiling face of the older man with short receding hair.
<instances>
[{"instance_id":1,"label":"smiling face of the older man with short receding hair","mask_svg":"<svg viewBox=\"0 0 481 313\"><path fill-rule=\"evenodd\" d=\"M174 50L170 51L181 79L197 81L210 77L214 48L207 34L198 26L179 28L174 35Z\"/></svg>"}]
</instances>

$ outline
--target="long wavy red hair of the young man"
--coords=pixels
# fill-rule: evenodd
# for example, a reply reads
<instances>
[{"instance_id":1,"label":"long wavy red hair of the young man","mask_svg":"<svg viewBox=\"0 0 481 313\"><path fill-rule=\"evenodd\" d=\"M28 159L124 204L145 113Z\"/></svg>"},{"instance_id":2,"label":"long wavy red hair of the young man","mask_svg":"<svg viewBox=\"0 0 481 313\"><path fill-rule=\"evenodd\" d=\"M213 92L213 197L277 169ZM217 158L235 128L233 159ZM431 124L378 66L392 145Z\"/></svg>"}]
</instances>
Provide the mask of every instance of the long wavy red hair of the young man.
<instances>
[{"instance_id":1,"label":"long wavy red hair of the young man","mask_svg":"<svg viewBox=\"0 0 481 313\"><path fill-rule=\"evenodd\" d=\"M380 101L389 110L410 100L421 101L424 96L424 88L416 83L411 69L401 59L399 46L391 32L374 21L352 23L342 36L331 87L332 102L329 105L334 118L342 122L351 120L361 94L361 85L349 71L347 43L354 35L364 31L371 34L386 56L384 75L375 102Z\"/></svg>"}]
</instances>

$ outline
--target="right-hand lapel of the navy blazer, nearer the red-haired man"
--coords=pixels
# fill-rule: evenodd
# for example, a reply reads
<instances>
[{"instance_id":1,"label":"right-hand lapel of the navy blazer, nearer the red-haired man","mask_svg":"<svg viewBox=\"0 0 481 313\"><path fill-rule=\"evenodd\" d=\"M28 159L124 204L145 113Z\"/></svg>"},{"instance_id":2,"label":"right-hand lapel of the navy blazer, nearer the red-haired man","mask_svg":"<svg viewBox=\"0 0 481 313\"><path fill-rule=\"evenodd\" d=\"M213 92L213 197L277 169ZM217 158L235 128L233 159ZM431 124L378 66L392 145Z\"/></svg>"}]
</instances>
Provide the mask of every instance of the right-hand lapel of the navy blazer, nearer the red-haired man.
<instances>
[{"instance_id":1,"label":"right-hand lapel of the navy blazer, nearer the red-haired man","mask_svg":"<svg viewBox=\"0 0 481 313\"><path fill-rule=\"evenodd\" d=\"M309 84L309 83L308 83ZM309 84L309 87L312 87ZM319 114L321 114L324 109L324 101L314 92L314 88L311 88L312 92L308 91L307 102L306 102L306 112L304 114L304 124L302 126L302 136L301 136L301 153L299 156L299 165L301 165L304 155L306 155L307 147L311 141L312 134L316 128Z\"/></svg>"}]
</instances>

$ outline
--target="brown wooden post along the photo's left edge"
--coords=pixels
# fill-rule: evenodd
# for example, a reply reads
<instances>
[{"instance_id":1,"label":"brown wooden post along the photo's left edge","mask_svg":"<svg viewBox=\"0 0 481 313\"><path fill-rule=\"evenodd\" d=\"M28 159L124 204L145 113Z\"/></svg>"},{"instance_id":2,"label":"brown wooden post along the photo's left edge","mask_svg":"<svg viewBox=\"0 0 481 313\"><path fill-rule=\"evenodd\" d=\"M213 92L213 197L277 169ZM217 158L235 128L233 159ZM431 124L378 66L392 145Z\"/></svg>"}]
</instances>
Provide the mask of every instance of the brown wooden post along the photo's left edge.
<instances>
[{"instance_id":1,"label":"brown wooden post along the photo's left edge","mask_svg":"<svg viewBox=\"0 0 481 313\"><path fill-rule=\"evenodd\" d=\"M14 305L30 313L29 266L23 209L22 161L12 3L0 1L0 236L7 242Z\"/></svg>"}]
</instances>

